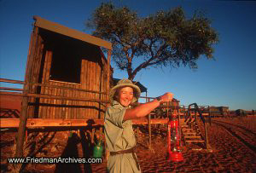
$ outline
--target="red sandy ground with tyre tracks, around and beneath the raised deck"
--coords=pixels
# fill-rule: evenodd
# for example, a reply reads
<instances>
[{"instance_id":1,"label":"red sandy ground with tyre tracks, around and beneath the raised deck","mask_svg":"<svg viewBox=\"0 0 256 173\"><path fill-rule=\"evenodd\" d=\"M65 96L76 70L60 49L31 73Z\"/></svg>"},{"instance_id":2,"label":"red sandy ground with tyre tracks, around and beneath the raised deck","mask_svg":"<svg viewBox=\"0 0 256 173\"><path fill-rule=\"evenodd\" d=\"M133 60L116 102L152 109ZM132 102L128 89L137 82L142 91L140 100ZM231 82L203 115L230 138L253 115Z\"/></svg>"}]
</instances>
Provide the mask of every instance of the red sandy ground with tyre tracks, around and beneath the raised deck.
<instances>
[{"instance_id":1,"label":"red sandy ground with tyre tracks, around and beneath the raised deck","mask_svg":"<svg viewBox=\"0 0 256 173\"><path fill-rule=\"evenodd\" d=\"M211 151L193 150L186 146L183 150L183 162L173 163L167 161L166 128L160 129L153 125L152 149L148 149L148 135L141 128L137 157L143 172L256 172L256 117L246 118L216 118L230 124L240 125L231 128L236 131L236 136L224 130L223 127L208 125L209 144ZM160 130L160 131L159 131ZM142 132L143 131L143 132ZM9 172L11 165L7 159L14 154L14 132L1 132L1 172ZM83 157L82 144L67 147L69 132L57 132L52 141L46 145L36 157L58 157L70 147L76 147L77 156ZM241 138L237 138L240 136ZM197 147L198 148L198 147ZM24 172L106 172L107 160L102 164L27 164Z\"/></svg>"}]
</instances>

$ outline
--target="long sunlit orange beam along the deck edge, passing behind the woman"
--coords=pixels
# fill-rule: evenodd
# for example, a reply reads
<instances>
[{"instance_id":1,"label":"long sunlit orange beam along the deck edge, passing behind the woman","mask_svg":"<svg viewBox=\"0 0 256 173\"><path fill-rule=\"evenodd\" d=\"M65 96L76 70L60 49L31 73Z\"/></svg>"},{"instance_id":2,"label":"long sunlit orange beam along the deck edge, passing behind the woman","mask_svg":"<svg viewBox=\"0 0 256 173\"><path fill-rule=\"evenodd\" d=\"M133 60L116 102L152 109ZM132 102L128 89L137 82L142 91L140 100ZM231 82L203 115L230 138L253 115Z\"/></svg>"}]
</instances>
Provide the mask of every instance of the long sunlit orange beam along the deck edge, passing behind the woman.
<instances>
[{"instance_id":1,"label":"long sunlit orange beam along the deck edge, passing behind the woman","mask_svg":"<svg viewBox=\"0 0 256 173\"><path fill-rule=\"evenodd\" d=\"M151 119L150 124L167 124L168 119ZM20 118L1 118L1 128L18 128ZM36 127L80 127L103 125L103 119L53 119L27 118L26 128ZM148 119L134 119L132 124L148 124Z\"/></svg>"}]
</instances>

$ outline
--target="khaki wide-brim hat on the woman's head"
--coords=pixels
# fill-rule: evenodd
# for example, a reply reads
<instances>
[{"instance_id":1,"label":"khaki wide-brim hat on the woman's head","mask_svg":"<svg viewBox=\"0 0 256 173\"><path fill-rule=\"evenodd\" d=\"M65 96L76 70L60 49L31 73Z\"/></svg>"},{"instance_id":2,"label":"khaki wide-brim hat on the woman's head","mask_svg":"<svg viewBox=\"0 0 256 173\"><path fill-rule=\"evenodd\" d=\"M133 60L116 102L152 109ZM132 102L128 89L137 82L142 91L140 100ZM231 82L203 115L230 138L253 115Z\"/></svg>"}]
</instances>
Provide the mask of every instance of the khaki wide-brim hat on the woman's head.
<instances>
[{"instance_id":1,"label":"khaki wide-brim hat on the woman's head","mask_svg":"<svg viewBox=\"0 0 256 173\"><path fill-rule=\"evenodd\" d=\"M133 99L131 103L136 102L141 95L141 89L136 84L132 84L131 80L127 78L119 80L118 84L116 84L112 89L110 89L109 91L110 101L113 102L113 96L116 92L116 89L123 88L123 87L131 87L133 89L134 94L133 94Z\"/></svg>"}]
</instances>

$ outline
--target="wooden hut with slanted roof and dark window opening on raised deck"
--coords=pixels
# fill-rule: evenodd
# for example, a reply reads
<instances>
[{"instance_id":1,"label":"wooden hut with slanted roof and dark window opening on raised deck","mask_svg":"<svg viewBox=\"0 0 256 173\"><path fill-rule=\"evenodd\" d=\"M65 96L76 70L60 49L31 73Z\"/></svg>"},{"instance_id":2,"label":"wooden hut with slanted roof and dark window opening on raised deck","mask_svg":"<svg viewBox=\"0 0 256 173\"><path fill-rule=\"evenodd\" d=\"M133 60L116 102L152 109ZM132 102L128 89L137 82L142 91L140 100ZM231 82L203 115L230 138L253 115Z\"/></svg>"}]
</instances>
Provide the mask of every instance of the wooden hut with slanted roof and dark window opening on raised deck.
<instances>
[{"instance_id":1,"label":"wooden hut with slanted roof and dark window opening on raised deck","mask_svg":"<svg viewBox=\"0 0 256 173\"><path fill-rule=\"evenodd\" d=\"M48 97L29 98L28 118L103 118L112 44L38 16L34 20L26 83L30 95ZM108 60L101 48L108 50ZM78 100L84 98L88 101Z\"/></svg>"}]
</instances>

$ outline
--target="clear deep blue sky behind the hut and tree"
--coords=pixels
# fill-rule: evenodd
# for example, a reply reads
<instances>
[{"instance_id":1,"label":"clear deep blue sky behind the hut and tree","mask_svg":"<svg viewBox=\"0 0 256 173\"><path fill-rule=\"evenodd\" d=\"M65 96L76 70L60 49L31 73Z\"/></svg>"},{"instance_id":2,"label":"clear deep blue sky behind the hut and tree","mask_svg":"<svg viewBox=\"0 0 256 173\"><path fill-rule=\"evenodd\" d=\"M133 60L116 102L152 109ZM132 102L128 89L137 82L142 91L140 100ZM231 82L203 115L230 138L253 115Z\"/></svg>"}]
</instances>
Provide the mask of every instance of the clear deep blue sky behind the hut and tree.
<instances>
[{"instance_id":1,"label":"clear deep blue sky behind the hut and tree","mask_svg":"<svg viewBox=\"0 0 256 173\"><path fill-rule=\"evenodd\" d=\"M32 17L85 32L84 26L104 0L0 0L0 78L24 80L32 32ZM220 0L114 0L117 7L128 6L146 17L159 10L181 6L189 18L202 10L212 20L219 42L214 45L215 60L204 56L196 71L189 67L150 68L137 73L136 81L148 88L148 96L172 92L181 105L224 106L230 110L256 109L256 1ZM128 78L114 62L113 78ZM1 86L21 88L16 84ZM143 95L145 95L143 93ZM143 102L143 100L141 100Z\"/></svg>"}]
</instances>

